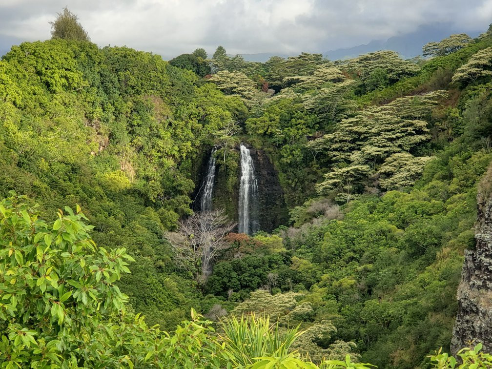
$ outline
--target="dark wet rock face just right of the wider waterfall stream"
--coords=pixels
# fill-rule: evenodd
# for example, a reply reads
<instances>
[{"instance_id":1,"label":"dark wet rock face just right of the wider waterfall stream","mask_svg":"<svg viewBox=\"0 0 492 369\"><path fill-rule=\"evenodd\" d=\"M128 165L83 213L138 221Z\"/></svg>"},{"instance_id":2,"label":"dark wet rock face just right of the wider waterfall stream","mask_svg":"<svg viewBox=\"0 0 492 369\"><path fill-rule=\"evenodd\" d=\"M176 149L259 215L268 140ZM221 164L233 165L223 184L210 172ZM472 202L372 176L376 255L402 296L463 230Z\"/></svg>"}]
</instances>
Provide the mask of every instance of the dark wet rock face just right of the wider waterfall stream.
<instances>
[{"instance_id":1,"label":"dark wet rock face just right of the wider waterfall stream","mask_svg":"<svg viewBox=\"0 0 492 369\"><path fill-rule=\"evenodd\" d=\"M287 224L288 212L278 172L263 150L249 149L258 181L258 213L260 230L270 232Z\"/></svg>"}]
</instances>

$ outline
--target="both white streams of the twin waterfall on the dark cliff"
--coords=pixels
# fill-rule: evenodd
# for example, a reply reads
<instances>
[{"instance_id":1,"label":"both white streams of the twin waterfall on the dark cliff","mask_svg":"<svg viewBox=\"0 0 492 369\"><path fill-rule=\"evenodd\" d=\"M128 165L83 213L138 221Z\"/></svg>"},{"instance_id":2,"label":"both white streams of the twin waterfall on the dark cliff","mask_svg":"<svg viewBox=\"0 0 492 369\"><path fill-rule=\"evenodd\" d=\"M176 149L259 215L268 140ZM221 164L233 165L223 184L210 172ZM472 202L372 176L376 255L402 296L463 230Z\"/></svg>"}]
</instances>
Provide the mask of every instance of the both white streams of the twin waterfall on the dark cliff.
<instances>
[{"instance_id":1,"label":"both white streams of the twin waterfall on the dark cliff","mask_svg":"<svg viewBox=\"0 0 492 369\"><path fill-rule=\"evenodd\" d=\"M241 144L241 180L239 186L238 232L252 234L260 229L258 221L258 182L255 177L253 159L245 145ZM200 202L202 212L212 210L215 180L215 149L210 154L207 176L202 184Z\"/></svg>"}]
</instances>

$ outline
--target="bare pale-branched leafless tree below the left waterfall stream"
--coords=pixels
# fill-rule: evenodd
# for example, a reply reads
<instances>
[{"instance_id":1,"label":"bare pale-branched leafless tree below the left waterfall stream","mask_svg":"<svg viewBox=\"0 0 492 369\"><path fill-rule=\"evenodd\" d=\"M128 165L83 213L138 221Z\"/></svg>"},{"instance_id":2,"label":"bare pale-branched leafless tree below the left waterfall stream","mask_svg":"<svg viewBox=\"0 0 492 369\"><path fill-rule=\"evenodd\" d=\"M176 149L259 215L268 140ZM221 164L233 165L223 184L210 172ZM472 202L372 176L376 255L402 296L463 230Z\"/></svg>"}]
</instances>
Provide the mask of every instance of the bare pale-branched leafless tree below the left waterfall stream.
<instances>
[{"instance_id":1,"label":"bare pale-branched leafless tree below the left waterfall stream","mask_svg":"<svg viewBox=\"0 0 492 369\"><path fill-rule=\"evenodd\" d=\"M230 245L225 236L236 223L223 209L195 213L180 221L177 232L164 235L171 244L178 265L203 285L212 273L215 257Z\"/></svg>"}]
</instances>

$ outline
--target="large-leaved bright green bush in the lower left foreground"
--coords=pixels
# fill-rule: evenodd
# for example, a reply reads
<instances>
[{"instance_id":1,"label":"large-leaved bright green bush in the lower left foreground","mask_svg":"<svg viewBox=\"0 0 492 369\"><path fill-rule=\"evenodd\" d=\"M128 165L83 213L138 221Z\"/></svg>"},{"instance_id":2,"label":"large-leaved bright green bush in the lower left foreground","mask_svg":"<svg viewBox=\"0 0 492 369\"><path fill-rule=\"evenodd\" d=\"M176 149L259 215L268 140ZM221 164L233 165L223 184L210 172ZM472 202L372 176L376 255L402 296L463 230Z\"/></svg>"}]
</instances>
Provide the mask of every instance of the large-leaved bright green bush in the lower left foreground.
<instances>
[{"instance_id":1,"label":"large-leaved bright green bush in the lower left foreground","mask_svg":"<svg viewBox=\"0 0 492 369\"><path fill-rule=\"evenodd\" d=\"M47 223L23 200L12 194L0 203L0 362L132 367L139 338L124 339L142 335L144 323L125 317L127 297L114 282L133 259L124 248L95 246L78 206Z\"/></svg>"}]
</instances>

